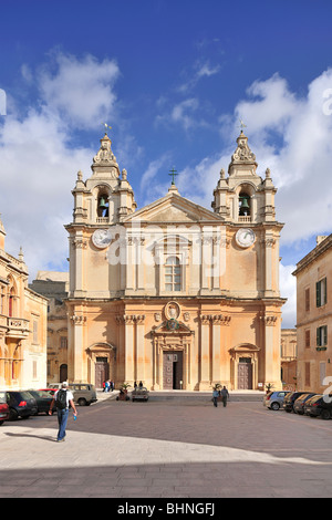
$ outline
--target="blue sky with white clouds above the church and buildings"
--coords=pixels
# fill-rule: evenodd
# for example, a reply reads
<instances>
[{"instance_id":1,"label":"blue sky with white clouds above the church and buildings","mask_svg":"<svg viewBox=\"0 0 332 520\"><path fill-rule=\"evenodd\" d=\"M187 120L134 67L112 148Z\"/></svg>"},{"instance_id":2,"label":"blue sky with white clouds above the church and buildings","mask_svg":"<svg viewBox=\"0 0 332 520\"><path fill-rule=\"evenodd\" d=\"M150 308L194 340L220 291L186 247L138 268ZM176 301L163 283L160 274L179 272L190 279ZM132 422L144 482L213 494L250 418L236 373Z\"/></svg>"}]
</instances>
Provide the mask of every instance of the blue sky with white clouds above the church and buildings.
<instances>
[{"instance_id":1,"label":"blue sky with white clouds above the church and buildings","mask_svg":"<svg viewBox=\"0 0 332 520\"><path fill-rule=\"evenodd\" d=\"M258 174L271 170L281 232L283 327L292 272L331 233L330 0L2 0L0 212L30 279L68 270L76 173L112 129L138 208L167 194L211 209L239 119Z\"/></svg>"}]
</instances>

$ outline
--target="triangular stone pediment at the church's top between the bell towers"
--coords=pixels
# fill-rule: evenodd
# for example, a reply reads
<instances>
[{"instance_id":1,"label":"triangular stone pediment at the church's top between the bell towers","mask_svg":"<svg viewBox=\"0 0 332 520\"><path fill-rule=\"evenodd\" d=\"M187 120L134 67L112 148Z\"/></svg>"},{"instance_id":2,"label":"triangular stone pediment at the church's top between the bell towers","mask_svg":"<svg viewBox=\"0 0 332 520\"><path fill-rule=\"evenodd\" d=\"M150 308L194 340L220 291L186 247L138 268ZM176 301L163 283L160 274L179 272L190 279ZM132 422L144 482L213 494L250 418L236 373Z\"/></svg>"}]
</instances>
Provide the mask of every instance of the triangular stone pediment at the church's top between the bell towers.
<instances>
[{"instance_id":1,"label":"triangular stone pediment at the church's top between the bell towers","mask_svg":"<svg viewBox=\"0 0 332 520\"><path fill-rule=\"evenodd\" d=\"M168 194L126 217L124 222L203 223L218 222L218 215L177 194Z\"/></svg>"}]
</instances>

